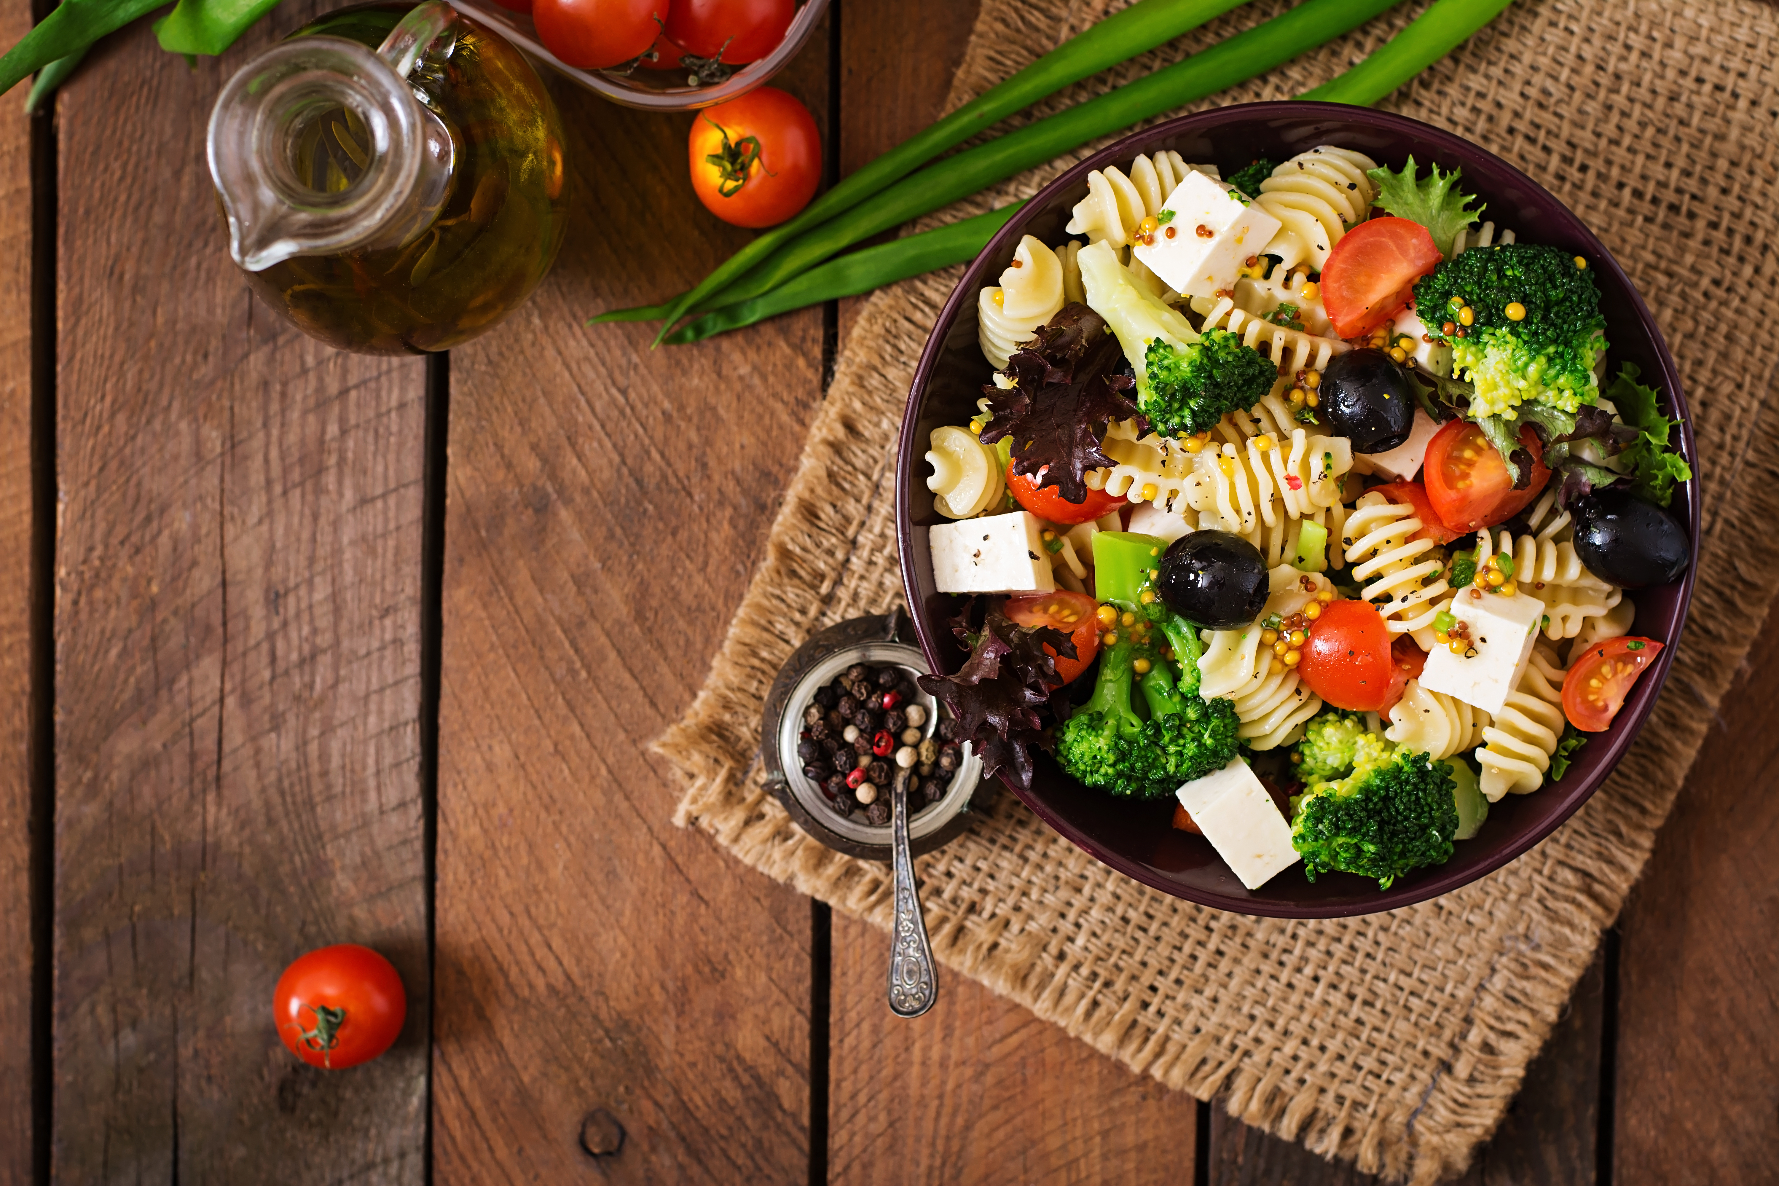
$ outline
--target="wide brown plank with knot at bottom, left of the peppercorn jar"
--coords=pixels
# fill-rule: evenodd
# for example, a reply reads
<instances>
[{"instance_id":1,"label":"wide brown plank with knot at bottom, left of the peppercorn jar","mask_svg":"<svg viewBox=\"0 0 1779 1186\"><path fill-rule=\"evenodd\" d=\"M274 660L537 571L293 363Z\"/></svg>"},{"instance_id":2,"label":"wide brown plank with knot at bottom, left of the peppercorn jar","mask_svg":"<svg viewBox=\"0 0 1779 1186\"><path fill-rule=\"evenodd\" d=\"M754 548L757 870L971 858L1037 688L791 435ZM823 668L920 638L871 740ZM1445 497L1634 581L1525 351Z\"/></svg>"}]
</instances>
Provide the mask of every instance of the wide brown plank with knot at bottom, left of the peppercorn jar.
<instances>
[{"instance_id":1,"label":"wide brown plank with knot at bottom, left of the peppercorn jar","mask_svg":"<svg viewBox=\"0 0 1779 1186\"><path fill-rule=\"evenodd\" d=\"M822 32L776 85L825 124ZM452 356L439 724L439 1182L808 1175L809 907L671 823L690 702L820 397L820 309L651 352L582 320L747 240L692 116L555 89L553 277Z\"/></svg>"}]
</instances>

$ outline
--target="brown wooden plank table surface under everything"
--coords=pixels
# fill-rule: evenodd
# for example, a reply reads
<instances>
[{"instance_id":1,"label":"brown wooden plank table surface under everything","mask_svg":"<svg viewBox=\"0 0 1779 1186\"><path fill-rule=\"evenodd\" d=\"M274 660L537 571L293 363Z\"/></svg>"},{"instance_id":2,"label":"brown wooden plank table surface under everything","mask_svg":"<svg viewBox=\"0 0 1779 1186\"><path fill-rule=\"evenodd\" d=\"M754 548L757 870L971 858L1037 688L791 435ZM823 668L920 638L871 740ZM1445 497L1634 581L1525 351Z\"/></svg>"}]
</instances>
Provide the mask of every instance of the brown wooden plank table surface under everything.
<instances>
[{"instance_id":1,"label":"brown wooden plank table surface under everything","mask_svg":"<svg viewBox=\"0 0 1779 1186\"><path fill-rule=\"evenodd\" d=\"M0 1182L1357 1181L961 976L895 1019L882 934L672 827L648 741L854 302L584 327L745 235L687 116L555 85L580 206L532 302L450 357L308 341L228 263L203 128L322 7L196 69L137 23L0 105ZM831 171L934 117L973 14L836 0L779 80ZM1740 674L1469 1181L1779 1181L1775 702ZM329 1074L270 996L343 941L409 1014Z\"/></svg>"}]
</instances>

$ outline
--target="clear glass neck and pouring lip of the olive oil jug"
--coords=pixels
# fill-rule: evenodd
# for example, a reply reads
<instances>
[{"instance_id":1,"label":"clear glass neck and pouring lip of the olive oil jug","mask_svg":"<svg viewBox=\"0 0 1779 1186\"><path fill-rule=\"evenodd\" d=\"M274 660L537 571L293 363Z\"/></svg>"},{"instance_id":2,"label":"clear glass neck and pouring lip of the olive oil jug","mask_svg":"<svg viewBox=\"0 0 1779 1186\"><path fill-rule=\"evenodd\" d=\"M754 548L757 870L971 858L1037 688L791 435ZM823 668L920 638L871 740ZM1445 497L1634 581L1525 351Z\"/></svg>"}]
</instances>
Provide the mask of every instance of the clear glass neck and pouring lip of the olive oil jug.
<instances>
[{"instance_id":1,"label":"clear glass neck and pouring lip of the olive oil jug","mask_svg":"<svg viewBox=\"0 0 1779 1186\"><path fill-rule=\"evenodd\" d=\"M382 50L299 37L229 78L210 114L208 156L235 263L260 272L292 256L397 245L432 220L454 148L406 75L427 46L450 52L454 21L450 5L431 0Z\"/></svg>"}]
</instances>

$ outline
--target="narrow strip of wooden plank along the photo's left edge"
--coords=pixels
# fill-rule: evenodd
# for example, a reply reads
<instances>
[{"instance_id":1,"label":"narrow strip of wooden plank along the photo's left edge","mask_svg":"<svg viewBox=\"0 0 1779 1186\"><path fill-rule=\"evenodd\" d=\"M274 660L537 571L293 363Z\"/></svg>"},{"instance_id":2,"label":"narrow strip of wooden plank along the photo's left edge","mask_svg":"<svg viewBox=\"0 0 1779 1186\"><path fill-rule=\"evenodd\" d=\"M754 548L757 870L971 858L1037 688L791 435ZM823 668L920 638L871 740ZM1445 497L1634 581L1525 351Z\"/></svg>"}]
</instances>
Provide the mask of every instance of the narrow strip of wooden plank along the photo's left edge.
<instances>
[{"instance_id":1,"label":"narrow strip of wooden plank along the photo's left edge","mask_svg":"<svg viewBox=\"0 0 1779 1186\"><path fill-rule=\"evenodd\" d=\"M0 41L30 4L0 4ZM0 103L0 1186L32 1174L30 119Z\"/></svg>"}]
</instances>

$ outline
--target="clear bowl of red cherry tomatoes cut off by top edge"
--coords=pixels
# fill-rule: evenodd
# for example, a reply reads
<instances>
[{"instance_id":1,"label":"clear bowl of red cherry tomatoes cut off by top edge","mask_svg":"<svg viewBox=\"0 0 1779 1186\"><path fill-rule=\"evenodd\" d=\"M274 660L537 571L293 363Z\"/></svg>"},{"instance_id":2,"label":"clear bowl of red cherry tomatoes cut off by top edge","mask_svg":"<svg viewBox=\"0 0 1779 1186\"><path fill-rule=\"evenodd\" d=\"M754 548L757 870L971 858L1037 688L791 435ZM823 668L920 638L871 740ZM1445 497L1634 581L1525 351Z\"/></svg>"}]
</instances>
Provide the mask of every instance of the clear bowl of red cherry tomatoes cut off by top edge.
<instances>
[{"instance_id":1,"label":"clear bowl of red cherry tomatoes cut off by top edge","mask_svg":"<svg viewBox=\"0 0 1779 1186\"><path fill-rule=\"evenodd\" d=\"M662 112L747 94L795 57L827 11L827 0L452 2L589 91Z\"/></svg>"}]
</instances>

